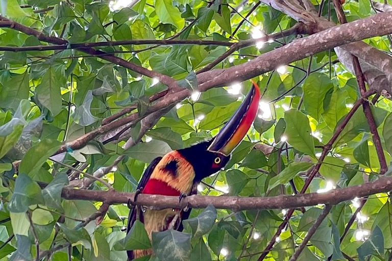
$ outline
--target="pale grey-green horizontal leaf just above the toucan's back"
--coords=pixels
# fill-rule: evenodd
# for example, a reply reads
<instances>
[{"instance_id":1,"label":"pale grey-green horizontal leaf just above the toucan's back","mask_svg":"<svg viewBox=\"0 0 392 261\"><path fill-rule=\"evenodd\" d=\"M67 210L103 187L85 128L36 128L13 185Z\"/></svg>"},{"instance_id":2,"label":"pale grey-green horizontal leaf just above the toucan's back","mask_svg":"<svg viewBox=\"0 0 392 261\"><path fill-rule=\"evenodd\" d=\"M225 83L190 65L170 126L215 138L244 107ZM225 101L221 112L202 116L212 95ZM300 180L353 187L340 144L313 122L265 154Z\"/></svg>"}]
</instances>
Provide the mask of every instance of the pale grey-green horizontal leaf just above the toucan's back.
<instances>
[{"instance_id":1,"label":"pale grey-green horizontal leaf just above the toucan's back","mask_svg":"<svg viewBox=\"0 0 392 261\"><path fill-rule=\"evenodd\" d=\"M171 151L171 148L166 142L152 140L150 142L138 143L122 153L141 162L150 163L155 158L164 156L169 151Z\"/></svg>"}]
</instances>

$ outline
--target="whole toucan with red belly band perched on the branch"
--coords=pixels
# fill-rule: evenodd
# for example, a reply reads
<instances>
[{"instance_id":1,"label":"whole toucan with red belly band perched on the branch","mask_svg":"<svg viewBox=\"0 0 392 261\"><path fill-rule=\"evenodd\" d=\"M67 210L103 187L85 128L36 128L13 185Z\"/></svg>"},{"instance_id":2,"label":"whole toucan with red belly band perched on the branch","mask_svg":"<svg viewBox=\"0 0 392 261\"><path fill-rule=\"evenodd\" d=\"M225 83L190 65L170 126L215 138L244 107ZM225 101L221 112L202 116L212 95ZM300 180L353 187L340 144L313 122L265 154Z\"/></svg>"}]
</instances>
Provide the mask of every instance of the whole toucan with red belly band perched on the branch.
<instances>
[{"instance_id":1,"label":"whole toucan with red belly band perched on the branch","mask_svg":"<svg viewBox=\"0 0 392 261\"><path fill-rule=\"evenodd\" d=\"M230 153L242 141L252 125L258 111L260 90L255 82L237 111L209 141L200 142L188 148L173 150L163 157L154 159L145 169L137 187L142 194L165 196L184 196L197 193L199 182L225 167L230 160ZM181 221L189 217L189 210L150 210L141 206L132 206L127 233L136 220L144 223L145 230L152 240L152 233L170 228L182 231ZM132 260L153 254L152 249L127 251Z\"/></svg>"}]
</instances>

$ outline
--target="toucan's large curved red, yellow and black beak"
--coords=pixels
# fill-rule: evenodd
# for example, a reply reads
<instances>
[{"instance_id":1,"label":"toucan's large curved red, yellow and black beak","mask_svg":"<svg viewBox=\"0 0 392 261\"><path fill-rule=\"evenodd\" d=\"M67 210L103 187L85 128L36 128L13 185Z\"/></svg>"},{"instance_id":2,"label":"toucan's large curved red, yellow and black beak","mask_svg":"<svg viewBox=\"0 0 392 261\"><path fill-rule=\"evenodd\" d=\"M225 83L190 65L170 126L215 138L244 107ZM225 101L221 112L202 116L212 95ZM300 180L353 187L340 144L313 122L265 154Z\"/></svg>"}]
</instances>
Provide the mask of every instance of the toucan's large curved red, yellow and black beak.
<instances>
[{"instance_id":1,"label":"toucan's large curved red, yellow and black beak","mask_svg":"<svg viewBox=\"0 0 392 261\"><path fill-rule=\"evenodd\" d=\"M207 150L228 156L247 135L256 117L260 101L260 89L254 81L252 83L253 86L241 106L220 129Z\"/></svg>"}]
</instances>

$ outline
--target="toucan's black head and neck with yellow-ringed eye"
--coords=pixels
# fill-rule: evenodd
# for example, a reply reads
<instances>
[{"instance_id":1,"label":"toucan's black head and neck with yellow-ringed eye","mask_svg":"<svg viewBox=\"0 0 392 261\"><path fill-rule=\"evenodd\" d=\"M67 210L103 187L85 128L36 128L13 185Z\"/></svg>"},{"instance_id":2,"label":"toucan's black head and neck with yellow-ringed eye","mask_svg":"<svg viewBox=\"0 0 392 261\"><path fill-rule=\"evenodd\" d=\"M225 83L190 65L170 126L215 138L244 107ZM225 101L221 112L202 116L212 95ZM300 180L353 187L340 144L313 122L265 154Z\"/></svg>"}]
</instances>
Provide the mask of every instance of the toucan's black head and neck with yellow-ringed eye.
<instances>
[{"instance_id":1,"label":"toucan's black head and neck with yellow-ringed eye","mask_svg":"<svg viewBox=\"0 0 392 261\"><path fill-rule=\"evenodd\" d=\"M230 155L226 156L220 152L208 150L212 140L194 144L178 152L192 165L195 172L195 181L211 176L226 166Z\"/></svg>"}]
</instances>

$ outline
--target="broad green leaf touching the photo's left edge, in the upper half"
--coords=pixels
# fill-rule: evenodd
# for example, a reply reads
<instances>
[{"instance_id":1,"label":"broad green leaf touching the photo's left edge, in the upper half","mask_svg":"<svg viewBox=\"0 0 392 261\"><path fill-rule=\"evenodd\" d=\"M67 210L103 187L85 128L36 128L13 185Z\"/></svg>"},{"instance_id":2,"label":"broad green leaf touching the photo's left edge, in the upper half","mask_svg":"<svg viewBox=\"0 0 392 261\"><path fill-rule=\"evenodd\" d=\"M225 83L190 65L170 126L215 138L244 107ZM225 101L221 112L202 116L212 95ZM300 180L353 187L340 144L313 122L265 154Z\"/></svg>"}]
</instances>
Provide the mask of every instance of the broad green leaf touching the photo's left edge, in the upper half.
<instances>
[{"instance_id":1,"label":"broad green leaf touching the photo's left edge, in the upper half","mask_svg":"<svg viewBox=\"0 0 392 261\"><path fill-rule=\"evenodd\" d=\"M16 74L3 86L0 92L0 108L16 111L20 101L29 98L29 73L26 71L22 74Z\"/></svg>"}]
</instances>

